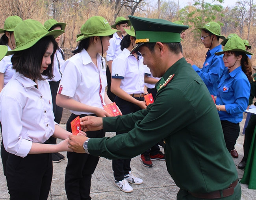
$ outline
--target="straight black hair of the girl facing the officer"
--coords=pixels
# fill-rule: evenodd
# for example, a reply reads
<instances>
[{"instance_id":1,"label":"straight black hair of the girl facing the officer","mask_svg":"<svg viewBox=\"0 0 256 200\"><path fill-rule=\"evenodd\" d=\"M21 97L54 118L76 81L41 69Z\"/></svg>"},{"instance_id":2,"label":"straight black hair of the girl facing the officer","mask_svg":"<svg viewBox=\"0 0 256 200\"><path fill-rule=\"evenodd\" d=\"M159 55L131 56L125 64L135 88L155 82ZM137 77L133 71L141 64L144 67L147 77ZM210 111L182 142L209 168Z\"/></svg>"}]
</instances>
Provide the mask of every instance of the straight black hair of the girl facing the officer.
<instances>
[{"instance_id":1,"label":"straight black hair of the girl facing the officer","mask_svg":"<svg viewBox=\"0 0 256 200\"><path fill-rule=\"evenodd\" d=\"M41 74L41 65L43 56L50 43L53 43L53 53L51 55L51 64L48 65L47 69ZM53 60L54 53L58 47L52 35L43 37L32 47L15 52L11 57L11 62L13 63L13 69L24 76L31 79L45 80L42 75L46 76L48 79L53 78Z\"/></svg>"}]
</instances>

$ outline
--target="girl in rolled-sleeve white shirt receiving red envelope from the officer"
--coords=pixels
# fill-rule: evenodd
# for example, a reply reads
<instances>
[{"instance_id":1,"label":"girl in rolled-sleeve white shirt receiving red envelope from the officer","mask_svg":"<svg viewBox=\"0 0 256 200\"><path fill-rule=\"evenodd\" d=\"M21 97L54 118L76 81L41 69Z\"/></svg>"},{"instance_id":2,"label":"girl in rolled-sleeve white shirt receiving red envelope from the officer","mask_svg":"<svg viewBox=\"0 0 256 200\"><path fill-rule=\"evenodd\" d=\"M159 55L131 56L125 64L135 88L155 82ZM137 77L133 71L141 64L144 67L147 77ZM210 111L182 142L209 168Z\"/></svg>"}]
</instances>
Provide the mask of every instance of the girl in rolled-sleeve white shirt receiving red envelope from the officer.
<instances>
[{"instance_id":1,"label":"girl in rolled-sleeve white shirt receiving red envelope from the officer","mask_svg":"<svg viewBox=\"0 0 256 200\"><path fill-rule=\"evenodd\" d=\"M15 74L0 93L0 120L9 152L6 180L12 200L47 200L52 181L52 152L67 151L70 133L54 122L50 86L52 60L58 44L36 20L24 20L14 30L16 48L11 62ZM10 106L11 105L11 106ZM65 139L48 144L51 137Z\"/></svg>"}]
</instances>

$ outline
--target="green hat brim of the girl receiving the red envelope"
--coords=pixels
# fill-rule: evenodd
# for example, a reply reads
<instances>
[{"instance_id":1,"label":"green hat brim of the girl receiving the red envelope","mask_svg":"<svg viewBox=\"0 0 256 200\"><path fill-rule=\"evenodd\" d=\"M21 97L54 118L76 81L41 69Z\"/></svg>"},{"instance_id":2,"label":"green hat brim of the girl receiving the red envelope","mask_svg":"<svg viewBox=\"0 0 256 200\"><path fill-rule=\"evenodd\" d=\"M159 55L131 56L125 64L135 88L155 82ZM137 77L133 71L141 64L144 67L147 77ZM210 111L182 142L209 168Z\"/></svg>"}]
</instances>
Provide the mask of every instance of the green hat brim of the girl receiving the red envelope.
<instances>
[{"instance_id":1,"label":"green hat brim of the girl receiving the red envelope","mask_svg":"<svg viewBox=\"0 0 256 200\"><path fill-rule=\"evenodd\" d=\"M46 37L46 36L54 36L54 38L57 38L59 35L63 34L65 31L63 30L52 30L52 31L49 31L48 33L46 33L45 35L42 35L40 37L37 37L36 39L22 45L22 46L18 46L16 47L14 50L11 50L11 51L8 51L6 56L9 56L11 54L14 54L15 52L18 52L18 51L22 51L22 50L26 50L32 46L34 46L40 39L42 39L43 37Z\"/></svg>"}]
</instances>

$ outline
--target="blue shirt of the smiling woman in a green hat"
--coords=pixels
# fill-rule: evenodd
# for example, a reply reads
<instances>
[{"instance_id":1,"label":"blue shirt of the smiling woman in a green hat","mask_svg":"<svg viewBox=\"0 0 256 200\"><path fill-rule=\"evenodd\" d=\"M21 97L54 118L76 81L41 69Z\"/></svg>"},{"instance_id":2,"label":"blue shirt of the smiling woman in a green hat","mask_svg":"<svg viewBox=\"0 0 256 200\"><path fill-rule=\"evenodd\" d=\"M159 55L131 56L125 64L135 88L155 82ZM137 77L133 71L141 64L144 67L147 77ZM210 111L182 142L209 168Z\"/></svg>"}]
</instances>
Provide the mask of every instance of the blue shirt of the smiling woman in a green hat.
<instances>
[{"instance_id":1,"label":"blue shirt of the smiling woman in a green hat","mask_svg":"<svg viewBox=\"0 0 256 200\"><path fill-rule=\"evenodd\" d=\"M228 120L232 123L239 123L243 120L243 112L248 106L250 96L250 83L238 67L229 73L225 69L221 81L218 85L218 94L216 99L217 105L225 105L225 111L219 111L221 120Z\"/></svg>"}]
</instances>

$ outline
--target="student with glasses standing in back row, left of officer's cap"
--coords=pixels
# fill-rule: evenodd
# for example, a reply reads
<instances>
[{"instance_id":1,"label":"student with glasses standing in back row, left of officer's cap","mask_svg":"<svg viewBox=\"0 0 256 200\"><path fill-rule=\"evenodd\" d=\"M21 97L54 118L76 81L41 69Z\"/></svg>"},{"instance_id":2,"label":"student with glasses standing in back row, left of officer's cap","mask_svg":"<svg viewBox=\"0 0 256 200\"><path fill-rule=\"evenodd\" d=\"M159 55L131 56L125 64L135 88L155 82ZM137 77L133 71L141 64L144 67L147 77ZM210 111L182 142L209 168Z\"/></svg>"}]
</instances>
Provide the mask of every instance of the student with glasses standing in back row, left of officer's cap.
<instances>
[{"instance_id":1,"label":"student with glasses standing in back row, left of officer's cap","mask_svg":"<svg viewBox=\"0 0 256 200\"><path fill-rule=\"evenodd\" d=\"M115 24L111 25L111 28L118 30L116 33L113 34L113 37L109 40L109 48L107 50L107 82L108 82L108 97L111 101L114 101L115 94L113 94L110 90L111 87L111 72L112 72L112 62L113 60L122 52L120 48L120 43L126 35L125 28L127 29L128 26L131 26L131 22L128 19L125 19L124 17L117 17L115 20Z\"/></svg>"}]
</instances>

